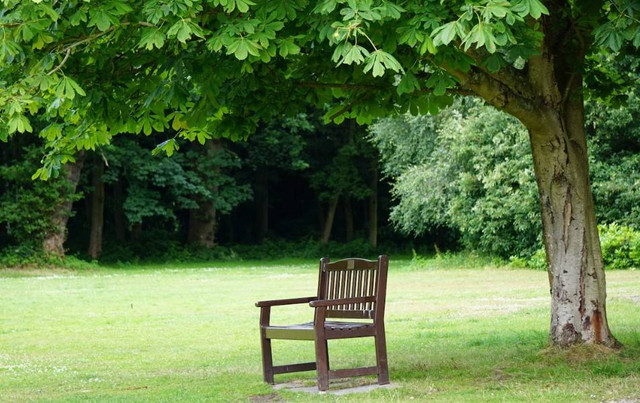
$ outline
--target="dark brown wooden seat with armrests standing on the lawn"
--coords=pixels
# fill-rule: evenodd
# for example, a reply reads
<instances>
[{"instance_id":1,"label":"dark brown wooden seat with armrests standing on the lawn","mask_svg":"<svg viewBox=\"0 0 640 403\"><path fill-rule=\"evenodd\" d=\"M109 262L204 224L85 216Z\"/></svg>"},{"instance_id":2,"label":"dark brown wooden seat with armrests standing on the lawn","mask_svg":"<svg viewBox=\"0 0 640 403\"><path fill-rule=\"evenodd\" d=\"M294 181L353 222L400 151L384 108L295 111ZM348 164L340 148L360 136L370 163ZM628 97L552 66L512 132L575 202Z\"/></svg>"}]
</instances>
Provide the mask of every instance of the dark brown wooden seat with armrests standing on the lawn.
<instances>
[{"instance_id":1,"label":"dark brown wooden seat with armrests standing on the lawn","mask_svg":"<svg viewBox=\"0 0 640 403\"><path fill-rule=\"evenodd\" d=\"M274 375L298 371L318 373L318 389L329 388L329 380L361 375L377 375L378 383L389 383L387 347L384 331L384 305L389 258L378 260L344 259L331 263L320 260L318 294L313 297L259 301L262 368L265 382L274 383ZM292 326L270 323L271 307L309 304L314 309L313 322ZM341 319L328 321L326 319ZM351 319L351 321L349 321ZM365 321L353 321L365 319ZM331 370L328 340L354 337L374 337L376 366ZM316 361L273 365L271 340L312 340L316 347Z\"/></svg>"}]
</instances>

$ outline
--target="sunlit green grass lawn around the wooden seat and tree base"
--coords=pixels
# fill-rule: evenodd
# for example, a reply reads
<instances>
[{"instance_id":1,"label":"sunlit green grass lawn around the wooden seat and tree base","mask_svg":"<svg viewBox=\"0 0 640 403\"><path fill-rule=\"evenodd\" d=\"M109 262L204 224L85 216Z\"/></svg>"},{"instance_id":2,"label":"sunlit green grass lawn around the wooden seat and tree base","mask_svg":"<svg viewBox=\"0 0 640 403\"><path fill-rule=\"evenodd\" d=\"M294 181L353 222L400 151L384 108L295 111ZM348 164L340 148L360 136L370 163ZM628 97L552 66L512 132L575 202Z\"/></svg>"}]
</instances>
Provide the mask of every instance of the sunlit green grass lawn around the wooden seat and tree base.
<instances>
[{"instance_id":1,"label":"sunlit green grass lawn around the wooden seat and tree base","mask_svg":"<svg viewBox=\"0 0 640 403\"><path fill-rule=\"evenodd\" d=\"M262 382L253 302L315 294L315 261L0 271L0 401L640 401L640 271L607 277L622 350L555 350L546 273L466 262L391 260L398 386L347 396ZM310 315L276 308L273 322ZM329 349L334 368L374 363L369 339ZM274 356L313 360L313 343L274 341ZM276 376L294 379L314 373Z\"/></svg>"}]
</instances>

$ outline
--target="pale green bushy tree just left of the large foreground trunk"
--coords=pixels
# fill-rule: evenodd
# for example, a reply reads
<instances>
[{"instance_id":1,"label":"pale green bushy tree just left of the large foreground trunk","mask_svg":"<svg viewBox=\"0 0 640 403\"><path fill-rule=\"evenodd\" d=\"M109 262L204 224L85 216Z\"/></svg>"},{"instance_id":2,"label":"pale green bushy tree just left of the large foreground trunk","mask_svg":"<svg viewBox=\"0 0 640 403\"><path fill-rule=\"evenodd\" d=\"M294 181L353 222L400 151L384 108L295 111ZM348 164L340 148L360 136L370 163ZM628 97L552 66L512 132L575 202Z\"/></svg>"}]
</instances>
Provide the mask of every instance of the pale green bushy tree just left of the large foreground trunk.
<instances>
[{"instance_id":1,"label":"pale green bushy tree just left of the large foreground trunk","mask_svg":"<svg viewBox=\"0 0 640 403\"><path fill-rule=\"evenodd\" d=\"M539 247L531 151L518 121L464 100L434 117L384 119L370 132L394 181L399 229L452 228L466 247L502 257Z\"/></svg>"}]
</instances>

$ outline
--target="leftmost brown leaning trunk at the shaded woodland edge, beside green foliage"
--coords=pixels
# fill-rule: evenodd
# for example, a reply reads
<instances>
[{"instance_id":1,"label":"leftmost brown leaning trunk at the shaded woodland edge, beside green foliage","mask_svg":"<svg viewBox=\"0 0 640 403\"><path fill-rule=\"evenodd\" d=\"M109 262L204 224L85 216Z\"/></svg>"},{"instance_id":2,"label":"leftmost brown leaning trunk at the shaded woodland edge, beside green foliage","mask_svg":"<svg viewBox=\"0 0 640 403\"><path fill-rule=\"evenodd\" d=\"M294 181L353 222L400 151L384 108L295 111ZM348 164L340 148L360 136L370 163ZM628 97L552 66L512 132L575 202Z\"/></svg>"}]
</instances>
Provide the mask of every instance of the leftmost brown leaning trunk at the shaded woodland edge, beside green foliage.
<instances>
[{"instance_id":1,"label":"leftmost brown leaning trunk at the shaded woodland edge, beside green foliage","mask_svg":"<svg viewBox=\"0 0 640 403\"><path fill-rule=\"evenodd\" d=\"M64 257L64 241L67 238L67 222L72 213L73 199L84 164L84 152L76 157L76 162L65 165L61 176L65 190L51 215L50 228L45 233L42 249L48 256Z\"/></svg>"}]
</instances>

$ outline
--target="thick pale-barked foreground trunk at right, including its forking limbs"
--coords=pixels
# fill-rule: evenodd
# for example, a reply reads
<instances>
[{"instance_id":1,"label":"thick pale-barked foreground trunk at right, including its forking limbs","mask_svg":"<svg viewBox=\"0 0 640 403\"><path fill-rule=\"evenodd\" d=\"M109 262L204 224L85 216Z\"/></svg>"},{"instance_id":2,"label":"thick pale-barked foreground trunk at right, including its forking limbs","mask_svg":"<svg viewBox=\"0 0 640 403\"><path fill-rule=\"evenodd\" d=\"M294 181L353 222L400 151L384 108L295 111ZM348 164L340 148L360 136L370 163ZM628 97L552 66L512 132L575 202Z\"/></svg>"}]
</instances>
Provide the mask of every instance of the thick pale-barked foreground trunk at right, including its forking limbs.
<instances>
[{"instance_id":1,"label":"thick pale-barked foreground trunk at right, including its forking limbs","mask_svg":"<svg viewBox=\"0 0 640 403\"><path fill-rule=\"evenodd\" d=\"M528 129L551 285L550 341L554 345L619 343L606 313L606 282L595 208L589 183L584 127L585 42L558 5L540 29L540 54L526 69L457 71L444 65L460 85L516 118Z\"/></svg>"}]
</instances>

